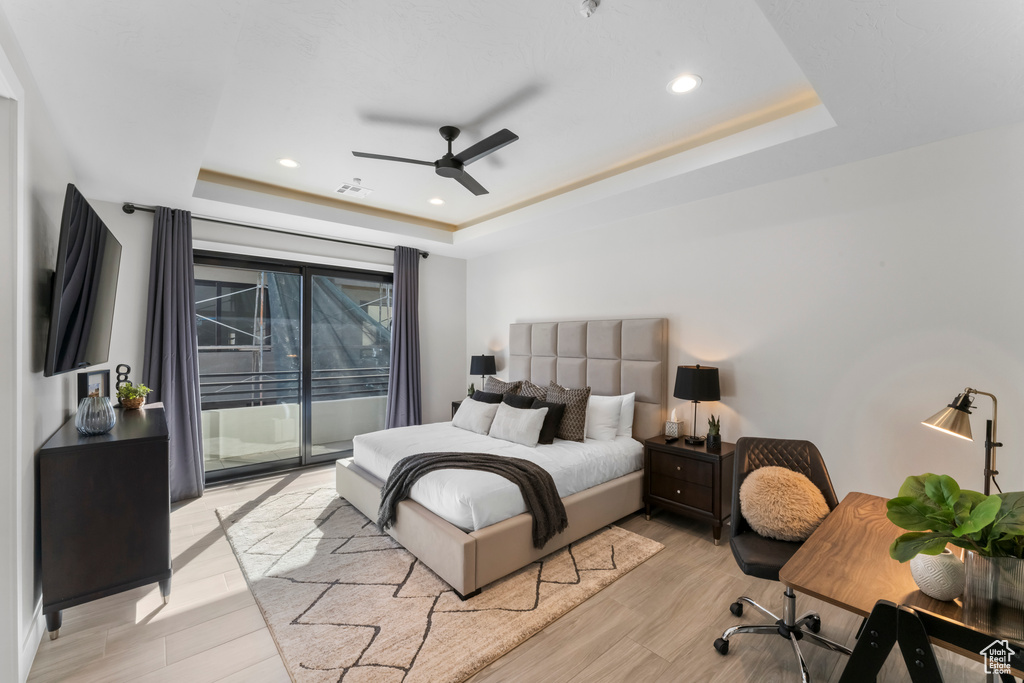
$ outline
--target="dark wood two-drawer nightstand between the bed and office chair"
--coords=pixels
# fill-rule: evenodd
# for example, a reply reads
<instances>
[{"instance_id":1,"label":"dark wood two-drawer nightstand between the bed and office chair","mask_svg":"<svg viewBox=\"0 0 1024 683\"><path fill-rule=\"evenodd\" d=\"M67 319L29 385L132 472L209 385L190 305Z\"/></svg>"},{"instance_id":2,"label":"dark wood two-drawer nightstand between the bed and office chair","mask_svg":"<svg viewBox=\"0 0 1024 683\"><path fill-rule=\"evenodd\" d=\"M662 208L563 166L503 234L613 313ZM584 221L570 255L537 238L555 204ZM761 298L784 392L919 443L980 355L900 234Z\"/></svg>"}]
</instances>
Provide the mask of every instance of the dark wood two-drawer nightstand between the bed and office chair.
<instances>
[{"instance_id":1,"label":"dark wood two-drawer nightstand between the bed and office chair","mask_svg":"<svg viewBox=\"0 0 1024 683\"><path fill-rule=\"evenodd\" d=\"M644 441L643 502L650 519L658 506L713 525L715 545L732 513L732 456L735 443L722 443L709 452L703 444L689 445L683 438L672 443L655 436Z\"/></svg>"}]
</instances>

